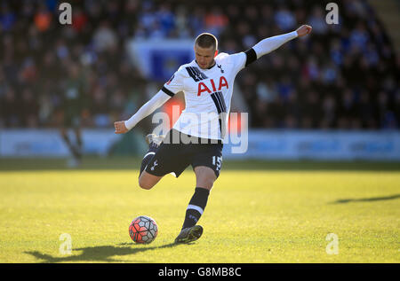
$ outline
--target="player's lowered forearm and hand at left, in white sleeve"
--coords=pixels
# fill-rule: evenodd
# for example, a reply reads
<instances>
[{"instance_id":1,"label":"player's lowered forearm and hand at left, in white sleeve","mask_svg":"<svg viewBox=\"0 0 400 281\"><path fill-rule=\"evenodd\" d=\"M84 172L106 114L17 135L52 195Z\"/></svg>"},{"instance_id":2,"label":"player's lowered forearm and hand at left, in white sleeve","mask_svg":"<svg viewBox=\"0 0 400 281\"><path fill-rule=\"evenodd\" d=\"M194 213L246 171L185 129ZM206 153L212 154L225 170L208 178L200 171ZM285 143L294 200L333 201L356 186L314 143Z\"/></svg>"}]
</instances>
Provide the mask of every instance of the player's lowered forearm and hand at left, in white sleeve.
<instances>
[{"instance_id":1,"label":"player's lowered forearm and hand at left, in white sleeve","mask_svg":"<svg viewBox=\"0 0 400 281\"><path fill-rule=\"evenodd\" d=\"M130 129L136 126L136 124L147 117L151 113L154 113L155 110L164 105L164 103L170 99L171 96L164 93L163 90L159 90L156 95L151 98L146 104L142 105L137 113L135 113L130 119L127 121L115 121L114 128L116 129L116 134L124 134L128 132Z\"/></svg>"}]
</instances>

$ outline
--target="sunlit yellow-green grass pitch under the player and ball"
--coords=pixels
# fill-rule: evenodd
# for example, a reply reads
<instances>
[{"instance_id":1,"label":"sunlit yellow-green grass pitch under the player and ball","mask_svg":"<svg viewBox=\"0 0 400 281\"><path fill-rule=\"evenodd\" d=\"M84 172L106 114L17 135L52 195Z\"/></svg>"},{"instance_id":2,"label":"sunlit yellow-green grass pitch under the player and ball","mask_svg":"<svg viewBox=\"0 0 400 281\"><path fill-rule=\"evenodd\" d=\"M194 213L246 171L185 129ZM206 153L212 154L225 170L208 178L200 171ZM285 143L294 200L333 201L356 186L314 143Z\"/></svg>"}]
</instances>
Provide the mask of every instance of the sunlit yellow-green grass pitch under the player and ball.
<instances>
[{"instance_id":1,"label":"sunlit yellow-green grass pitch under the player and ball","mask_svg":"<svg viewBox=\"0 0 400 281\"><path fill-rule=\"evenodd\" d=\"M172 244L195 175L137 184L139 161L0 160L1 262L399 262L398 163L225 161L202 238ZM138 215L159 232L149 245L128 234ZM71 254L60 247L71 238ZM334 233L332 236L328 234ZM328 238L328 239L327 239Z\"/></svg>"}]
</instances>

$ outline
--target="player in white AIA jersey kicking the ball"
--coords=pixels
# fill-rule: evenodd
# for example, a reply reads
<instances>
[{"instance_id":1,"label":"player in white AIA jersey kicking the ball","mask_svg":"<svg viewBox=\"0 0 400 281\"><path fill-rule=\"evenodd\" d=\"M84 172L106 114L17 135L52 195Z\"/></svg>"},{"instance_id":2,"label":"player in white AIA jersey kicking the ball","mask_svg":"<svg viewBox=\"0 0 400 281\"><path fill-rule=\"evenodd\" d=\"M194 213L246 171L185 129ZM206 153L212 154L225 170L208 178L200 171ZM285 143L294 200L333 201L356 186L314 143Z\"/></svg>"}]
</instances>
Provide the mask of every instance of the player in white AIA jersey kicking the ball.
<instances>
[{"instance_id":1,"label":"player in white AIA jersey kicking the ball","mask_svg":"<svg viewBox=\"0 0 400 281\"><path fill-rule=\"evenodd\" d=\"M200 238L203 228L196 223L204 208L215 180L220 176L222 140L228 123L228 113L236 74L274 51L284 43L311 32L303 25L284 35L261 40L251 49L228 55L218 53L214 35L204 33L195 41L195 60L180 66L156 95L127 121L114 123L115 133L126 133L140 120L179 91L185 94L186 108L165 137L148 135L139 176L141 188L149 190L167 174L176 177L191 165L196 174L196 189L188 203L185 220L176 243L189 243ZM204 114L205 113L205 114Z\"/></svg>"}]
</instances>

